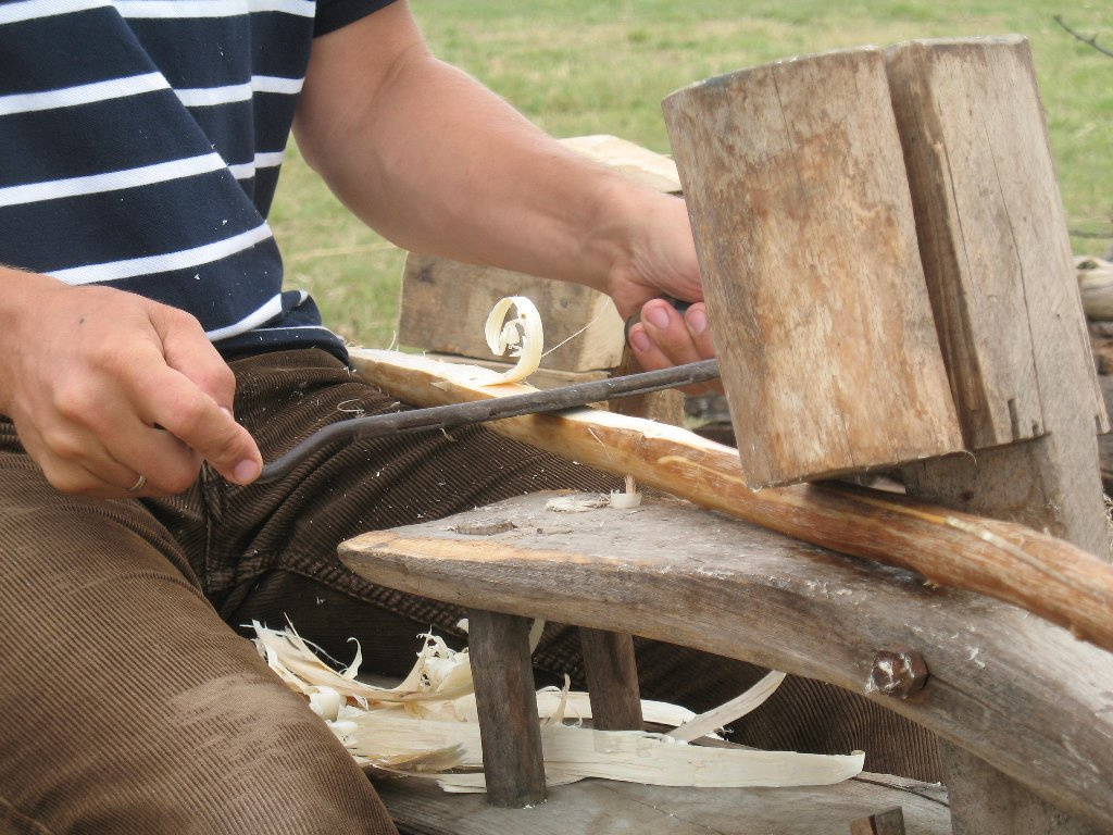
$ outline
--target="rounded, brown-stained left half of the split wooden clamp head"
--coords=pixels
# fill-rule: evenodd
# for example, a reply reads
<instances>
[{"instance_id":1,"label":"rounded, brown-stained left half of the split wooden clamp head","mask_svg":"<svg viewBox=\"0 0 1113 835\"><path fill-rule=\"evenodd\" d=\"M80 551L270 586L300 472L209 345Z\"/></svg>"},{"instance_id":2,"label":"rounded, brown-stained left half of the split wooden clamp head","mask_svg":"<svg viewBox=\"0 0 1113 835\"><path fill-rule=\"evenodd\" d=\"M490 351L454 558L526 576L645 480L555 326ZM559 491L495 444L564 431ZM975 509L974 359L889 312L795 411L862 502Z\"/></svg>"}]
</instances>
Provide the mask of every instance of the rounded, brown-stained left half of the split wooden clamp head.
<instances>
[{"instance_id":1,"label":"rounded, brown-stained left half of the split wooden clamp head","mask_svg":"<svg viewBox=\"0 0 1113 835\"><path fill-rule=\"evenodd\" d=\"M959 450L883 53L663 107L749 487Z\"/></svg>"}]
</instances>

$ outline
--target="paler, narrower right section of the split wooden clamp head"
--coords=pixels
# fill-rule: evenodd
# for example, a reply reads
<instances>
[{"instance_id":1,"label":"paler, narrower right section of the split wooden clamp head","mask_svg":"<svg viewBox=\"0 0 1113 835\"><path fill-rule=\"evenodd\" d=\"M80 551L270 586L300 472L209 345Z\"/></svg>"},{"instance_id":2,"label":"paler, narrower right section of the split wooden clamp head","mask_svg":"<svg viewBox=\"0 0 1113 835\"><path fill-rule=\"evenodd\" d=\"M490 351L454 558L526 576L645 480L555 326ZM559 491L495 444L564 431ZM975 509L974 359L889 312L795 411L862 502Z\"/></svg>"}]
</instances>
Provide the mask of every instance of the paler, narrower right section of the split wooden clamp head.
<instances>
[{"instance_id":1,"label":"paler, narrower right section of the split wooden clamp head","mask_svg":"<svg viewBox=\"0 0 1113 835\"><path fill-rule=\"evenodd\" d=\"M1107 431L1027 41L886 50L952 391L969 449L1036 438L1086 392ZM1036 355L1060 373L1040 379Z\"/></svg>"}]
</instances>

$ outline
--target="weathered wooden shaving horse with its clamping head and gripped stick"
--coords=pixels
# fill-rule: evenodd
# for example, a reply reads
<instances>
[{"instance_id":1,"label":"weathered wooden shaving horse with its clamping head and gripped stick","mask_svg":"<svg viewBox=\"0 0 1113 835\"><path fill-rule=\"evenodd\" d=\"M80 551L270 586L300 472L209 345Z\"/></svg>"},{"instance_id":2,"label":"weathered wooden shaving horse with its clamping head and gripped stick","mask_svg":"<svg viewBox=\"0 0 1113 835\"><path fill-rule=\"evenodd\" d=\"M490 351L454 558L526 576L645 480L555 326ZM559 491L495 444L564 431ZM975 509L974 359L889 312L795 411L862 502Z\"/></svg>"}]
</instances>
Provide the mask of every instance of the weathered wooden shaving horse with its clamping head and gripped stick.
<instances>
[{"instance_id":1,"label":"weathered wooden shaving horse with its clamping head and gripped stick","mask_svg":"<svg viewBox=\"0 0 1113 835\"><path fill-rule=\"evenodd\" d=\"M1027 43L795 59L664 116L737 448L597 410L508 419L492 428L677 498L522 497L341 547L470 611L487 795L384 783L400 826L1113 832L1109 424ZM422 405L501 393L354 362ZM846 480L870 472L899 489ZM865 694L938 736L946 790L546 790L533 618L580 627L598 727L641 726L636 635Z\"/></svg>"}]
</instances>

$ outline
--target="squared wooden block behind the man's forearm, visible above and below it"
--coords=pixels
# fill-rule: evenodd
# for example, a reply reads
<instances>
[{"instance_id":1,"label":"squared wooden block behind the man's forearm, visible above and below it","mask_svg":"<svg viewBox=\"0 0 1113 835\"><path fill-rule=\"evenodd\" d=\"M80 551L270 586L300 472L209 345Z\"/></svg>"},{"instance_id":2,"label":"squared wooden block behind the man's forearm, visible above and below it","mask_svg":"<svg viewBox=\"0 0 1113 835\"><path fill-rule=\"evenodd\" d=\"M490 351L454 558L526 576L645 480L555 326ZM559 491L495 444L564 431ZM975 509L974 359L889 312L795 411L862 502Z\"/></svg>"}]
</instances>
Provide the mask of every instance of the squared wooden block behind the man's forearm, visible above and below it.
<instances>
[{"instance_id":1,"label":"squared wooden block behind the man's forearm, visible above and below it","mask_svg":"<svg viewBox=\"0 0 1113 835\"><path fill-rule=\"evenodd\" d=\"M661 191L679 190L676 164L618 137L573 137L564 144L591 159ZM541 363L552 371L613 369L626 344L622 317L608 296L580 285L550 282L524 273L474 266L410 254L402 275L398 343L407 347L492 358L483 323L503 296L528 296L541 313L545 350Z\"/></svg>"}]
</instances>

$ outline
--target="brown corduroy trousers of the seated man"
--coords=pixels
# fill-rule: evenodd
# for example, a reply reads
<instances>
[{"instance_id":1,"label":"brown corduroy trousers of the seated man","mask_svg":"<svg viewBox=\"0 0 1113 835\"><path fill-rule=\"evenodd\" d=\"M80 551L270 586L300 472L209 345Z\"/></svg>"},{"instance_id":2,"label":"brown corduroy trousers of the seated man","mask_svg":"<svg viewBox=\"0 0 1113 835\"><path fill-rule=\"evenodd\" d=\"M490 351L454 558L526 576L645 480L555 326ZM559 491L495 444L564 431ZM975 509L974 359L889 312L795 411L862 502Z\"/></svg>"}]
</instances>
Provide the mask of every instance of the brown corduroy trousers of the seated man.
<instances>
[{"instance_id":1,"label":"brown corduroy trousers of the seated man","mask_svg":"<svg viewBox=\"0 0 1113 835\"><path fill-rule=\"evenodd\" d=\"M396 403L319 351L238 360L237 418L272 460L314 429ZM372 785L243 636L292 622L363 669L408 670L417 633L461 616L375 587L338 542L550 488L614 479L481 428L325 450L283 481L210 473L167 500L53 491L0 421L0 833L391 833ZM703 709L762 670L638 644L643 695ZM542 680L582 686L575 631L550 626ZM764 748L867 752L933 779L934 738L866 699L790 678L736 727Z\"/></svg>"}]
</instances>

